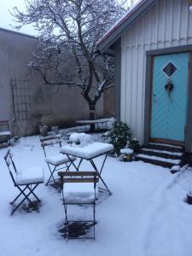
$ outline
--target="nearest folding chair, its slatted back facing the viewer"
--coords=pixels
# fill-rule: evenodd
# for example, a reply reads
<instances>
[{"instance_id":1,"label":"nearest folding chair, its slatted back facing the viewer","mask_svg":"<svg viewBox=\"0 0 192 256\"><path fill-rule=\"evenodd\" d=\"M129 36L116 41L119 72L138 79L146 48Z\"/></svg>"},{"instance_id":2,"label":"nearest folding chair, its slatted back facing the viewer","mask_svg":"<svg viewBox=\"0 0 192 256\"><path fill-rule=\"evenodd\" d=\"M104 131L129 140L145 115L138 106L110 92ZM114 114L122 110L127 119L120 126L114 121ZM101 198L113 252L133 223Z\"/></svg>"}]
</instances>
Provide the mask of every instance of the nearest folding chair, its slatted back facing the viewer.
<instances>
[{"instance_id":1,"label":"nearest folding chair, its slatted back facing the viewer","mask_svg":"<svg viewBox=\"0 0 192 256\"><path fill-rule=\"evenodd\" d=\"M99 177L97 172L58 172L63 182L62 201L65 211L65 238L67 239L95 239L96 198ZM93 209L92 219L70 220L67 207L71 205L90 205ZM93 226L93 236L77 236L71 234L70 224L89 224Z\"/></svg>"}]
</instances>

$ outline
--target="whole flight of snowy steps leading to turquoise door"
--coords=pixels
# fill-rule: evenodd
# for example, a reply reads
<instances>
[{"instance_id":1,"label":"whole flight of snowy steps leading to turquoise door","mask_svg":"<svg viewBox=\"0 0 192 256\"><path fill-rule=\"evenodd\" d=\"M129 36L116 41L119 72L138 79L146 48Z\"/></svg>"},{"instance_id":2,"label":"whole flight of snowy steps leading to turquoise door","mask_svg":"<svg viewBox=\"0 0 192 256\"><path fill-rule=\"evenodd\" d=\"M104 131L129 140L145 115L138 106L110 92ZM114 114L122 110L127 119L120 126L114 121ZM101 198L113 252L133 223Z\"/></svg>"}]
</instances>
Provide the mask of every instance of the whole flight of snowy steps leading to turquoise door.
<instances>
[{"instance_id":1,"label":"whole flight of snowy steps leading to turquoise door","mask_svg":"<svg viewBox=\"0 0 192 256\"><path fill-rule=\"evenodd\" d=\"M181 165L182 159L183 147L165 143L148 143L136 154L136 160L168 168Z\"/></svg>"}]
</instances>

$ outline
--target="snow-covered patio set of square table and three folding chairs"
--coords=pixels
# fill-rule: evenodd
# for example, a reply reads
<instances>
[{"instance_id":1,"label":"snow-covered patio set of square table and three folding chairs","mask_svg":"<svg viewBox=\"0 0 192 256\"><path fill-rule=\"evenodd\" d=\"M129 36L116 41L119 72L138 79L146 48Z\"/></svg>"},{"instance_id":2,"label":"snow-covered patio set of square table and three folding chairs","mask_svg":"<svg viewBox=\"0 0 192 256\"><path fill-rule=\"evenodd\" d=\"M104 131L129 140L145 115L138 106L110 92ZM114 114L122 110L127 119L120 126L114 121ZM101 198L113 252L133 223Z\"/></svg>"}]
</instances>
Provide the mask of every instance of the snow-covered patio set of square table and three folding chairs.
<instances>
[{"instance_id":1,"label":"snow-covered patio set of square table and three folding chairs","mask_svg":"<svg viewBox=\"0 0 192 256\"><path fill-rule=\"evenodd\" d=\"M95 224L96 224L96 199L99 196L99 191L112 195L108 189L107 183L102 177L102 170L108 157L108 153L113 151L113 145L109 143L87 143L83 146L73 145L72 143L61 146L61 135L44 137L40 139L41 146L44 150L44 160L49 168L49 178L45 185L55 183L54 173L62 183L61 198L65 212L65 230L72 223L90 223L93 226L93 236L83 238L95 239ZM58 154L50 154L49 146L58 146ZM51 148L50 148L51 149ZM103 155L101 168L96 166L96 157ZM32 203L31 195L40 202L34 190L37 189L40 183L44 183L44 174L41 168L32 167L26 170L18 170L13 160L13 155L8 149L4 156L4 160L8 166L10 177L17 189L17 195L14 201L11 202L13 210L11 215L23 204L24 201ZM92 167L91 171L82 170L82 162L88 161ZM102 187L98 187L98 183ZM22 200L19 199L23 196ZM19 201L17 204L16 201ZM70 205L90 205L93 209L93 218L86 220L70 220L67 213L67 208ZM80 238L70 236L65 231L66 238Z\"/></svg>"}]
</instances>

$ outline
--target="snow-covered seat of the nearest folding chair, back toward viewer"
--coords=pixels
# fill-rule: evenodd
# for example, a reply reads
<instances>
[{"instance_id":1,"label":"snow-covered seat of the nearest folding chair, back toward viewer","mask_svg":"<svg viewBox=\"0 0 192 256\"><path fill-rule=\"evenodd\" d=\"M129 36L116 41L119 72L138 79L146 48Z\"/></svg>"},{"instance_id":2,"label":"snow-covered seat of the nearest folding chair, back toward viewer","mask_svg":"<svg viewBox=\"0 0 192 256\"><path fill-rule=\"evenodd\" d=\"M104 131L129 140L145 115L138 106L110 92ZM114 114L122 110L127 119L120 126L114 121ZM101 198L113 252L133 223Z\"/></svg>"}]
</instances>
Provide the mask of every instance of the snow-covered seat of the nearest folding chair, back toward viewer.
<instances>
[{"instance_id":1,"label":"snow-covered seat of the nearest folding chair, back toward viewer","mask_svg":"<svg viewBox=\"0 0 192 256\"><path fill-rule=\"evenodd\" d=\"M66 203L93 203L95 201L94 183L64 183L63 195ZM97 187L96 198L98 198Z\"/></svg>"}]
</instances>

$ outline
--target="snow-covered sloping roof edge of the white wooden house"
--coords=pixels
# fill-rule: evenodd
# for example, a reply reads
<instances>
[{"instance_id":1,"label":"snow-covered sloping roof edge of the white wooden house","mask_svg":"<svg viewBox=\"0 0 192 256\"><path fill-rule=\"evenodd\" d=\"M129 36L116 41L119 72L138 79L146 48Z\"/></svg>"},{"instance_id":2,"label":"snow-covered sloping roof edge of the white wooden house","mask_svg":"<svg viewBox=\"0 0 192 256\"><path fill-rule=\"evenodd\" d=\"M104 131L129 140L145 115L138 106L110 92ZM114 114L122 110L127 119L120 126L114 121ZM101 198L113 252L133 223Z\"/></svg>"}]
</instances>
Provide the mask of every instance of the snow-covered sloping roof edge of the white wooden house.
<instances>
[{"instance_id":1,"label":"snow-covered sloping roof edge of the white wooden house","mask_svg":"<svg viewBox=\"0 0 192 256\"><path fill-rule=\"evenodd\" d=\"M105 39L107 39L113 32L115 32L119 26L121 26L125 20L129 19L131 15L133 15L137 9L139 9L143 3L147 2L148 0L139 0L137 3L134 3L131 8L123 15L109 30L104 34L104 36L97 42L97 46L102 44Z\"/></svg>"}]
</instances>

